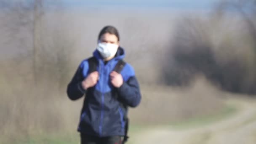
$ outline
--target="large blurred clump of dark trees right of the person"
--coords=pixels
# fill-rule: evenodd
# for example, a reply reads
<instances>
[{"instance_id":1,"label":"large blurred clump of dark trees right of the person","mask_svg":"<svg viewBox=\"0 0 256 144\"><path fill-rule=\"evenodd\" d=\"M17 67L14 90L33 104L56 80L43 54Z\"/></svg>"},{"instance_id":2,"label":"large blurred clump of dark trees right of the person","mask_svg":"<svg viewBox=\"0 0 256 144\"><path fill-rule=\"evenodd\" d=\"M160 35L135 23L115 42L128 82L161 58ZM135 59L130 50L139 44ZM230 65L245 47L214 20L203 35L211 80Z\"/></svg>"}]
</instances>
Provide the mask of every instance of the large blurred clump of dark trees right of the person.
<instances>
[{"instance_id":1,"label":"large blurred clump of dark trees right of the person","mask_svg":"<svg viewBox=\"0 0 256 144\"><path fill-rule=\"evenodd\" d=\"M166 84L187 85L203 74L224 90L256 93L256 3L241 1L219 3L208 18L178 22L163 67Z\"/></svg>"}]
</instances>

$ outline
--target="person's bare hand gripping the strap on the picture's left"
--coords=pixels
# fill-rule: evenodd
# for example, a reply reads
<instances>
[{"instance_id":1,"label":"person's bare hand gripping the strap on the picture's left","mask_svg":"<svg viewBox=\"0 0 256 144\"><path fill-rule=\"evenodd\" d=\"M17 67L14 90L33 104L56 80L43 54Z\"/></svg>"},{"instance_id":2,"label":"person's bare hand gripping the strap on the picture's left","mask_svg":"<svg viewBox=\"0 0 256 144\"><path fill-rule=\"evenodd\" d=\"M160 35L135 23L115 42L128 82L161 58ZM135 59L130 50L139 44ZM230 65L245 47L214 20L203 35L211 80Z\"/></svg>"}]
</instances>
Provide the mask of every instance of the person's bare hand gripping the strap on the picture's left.
<instances>
[{"instance_id":1,"label":"person's bare hand gripping the strap on the picture's left","mask_svg":"<svg viewBox=\"0 0 256 144\"><path fill-rule=\"evenodd\" d=\"M86 90L88 88L93 87L96 85L97 81L99 79L99 72L95 71L90 73L85 80L82 81L82 86Z\"/></svg>"}]
</instances>

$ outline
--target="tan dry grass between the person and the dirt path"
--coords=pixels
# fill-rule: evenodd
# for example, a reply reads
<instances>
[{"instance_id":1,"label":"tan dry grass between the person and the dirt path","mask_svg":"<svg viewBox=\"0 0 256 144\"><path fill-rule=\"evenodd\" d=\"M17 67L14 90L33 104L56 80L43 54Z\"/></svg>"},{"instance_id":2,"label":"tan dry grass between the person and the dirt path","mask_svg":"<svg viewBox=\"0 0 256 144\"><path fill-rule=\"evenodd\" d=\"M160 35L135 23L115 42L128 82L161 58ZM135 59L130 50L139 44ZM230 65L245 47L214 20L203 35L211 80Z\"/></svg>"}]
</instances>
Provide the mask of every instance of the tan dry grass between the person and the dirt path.
<instances>
[{"instance_id":1,"label":"tan dry grass between the person and the dirt path","mask_svg":"<svg viewBox=\"0 0 256 144\"><path fill-rule=\"evenodd\" d=\"M223 93L199 77L187 88L142 85L140 107L131 109L134 123L168 124L200 115L211 115L224 106ZM142 115L143 114L143 115Z\"/></svg>"}]
</instances>

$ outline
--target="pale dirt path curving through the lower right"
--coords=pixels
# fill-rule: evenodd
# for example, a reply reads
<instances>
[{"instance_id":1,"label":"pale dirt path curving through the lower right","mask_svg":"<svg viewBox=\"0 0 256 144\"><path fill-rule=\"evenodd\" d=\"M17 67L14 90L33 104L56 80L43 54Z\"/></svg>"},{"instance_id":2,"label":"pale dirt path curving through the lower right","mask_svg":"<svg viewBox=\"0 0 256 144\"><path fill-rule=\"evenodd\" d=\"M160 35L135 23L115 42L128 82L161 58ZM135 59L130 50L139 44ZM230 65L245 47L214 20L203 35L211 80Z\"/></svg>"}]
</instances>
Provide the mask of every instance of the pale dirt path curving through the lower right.
<instances>
[{"instance_id":1,"label":"pale dirt path curving through the lower right","mask_svg":"<svg viewBox=\"0 0 256 144\"><path fill-rule=\"evenodd\" d=\"M256 101L228 99L240 106L237 114L197 128L154 128L133 136L132 144L256 144Z\"/></svg>"}]
</instances>

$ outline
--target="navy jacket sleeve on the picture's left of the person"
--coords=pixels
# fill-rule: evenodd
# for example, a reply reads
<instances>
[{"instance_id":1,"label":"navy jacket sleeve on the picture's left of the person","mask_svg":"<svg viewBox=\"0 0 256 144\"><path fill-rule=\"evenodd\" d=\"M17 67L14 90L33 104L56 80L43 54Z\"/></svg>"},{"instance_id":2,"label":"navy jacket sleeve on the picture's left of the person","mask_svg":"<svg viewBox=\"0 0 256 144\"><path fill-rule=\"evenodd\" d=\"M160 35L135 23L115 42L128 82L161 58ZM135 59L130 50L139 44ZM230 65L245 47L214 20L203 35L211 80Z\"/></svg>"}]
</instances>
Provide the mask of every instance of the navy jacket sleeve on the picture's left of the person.
<instances>
[{"instance_id":1,"label":"navy jacket sleeve on the picture's left of the person","mask_svg":"<svg viewBox=\"0 0 256 144\"><path fill-rule=\"evenodd\" d=\"M82 86L82 81L84 80L83 69L83 63L81 63L67 86L67 95L71 100L77 100L86 93L86 90Z\"/></svg>"}]
</instances>

